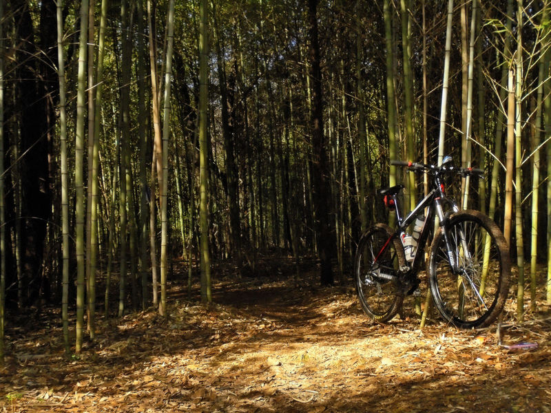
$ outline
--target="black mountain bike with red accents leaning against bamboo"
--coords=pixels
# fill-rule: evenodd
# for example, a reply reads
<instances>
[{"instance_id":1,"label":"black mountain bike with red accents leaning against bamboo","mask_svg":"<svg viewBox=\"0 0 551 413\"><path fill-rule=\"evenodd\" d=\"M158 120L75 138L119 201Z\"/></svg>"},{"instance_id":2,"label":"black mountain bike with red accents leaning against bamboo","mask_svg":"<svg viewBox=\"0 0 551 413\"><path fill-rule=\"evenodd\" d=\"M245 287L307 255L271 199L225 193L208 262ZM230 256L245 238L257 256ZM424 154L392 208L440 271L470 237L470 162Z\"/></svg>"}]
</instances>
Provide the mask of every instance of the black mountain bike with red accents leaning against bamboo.
<instances>
[{"instance_id":1,"label":"black mountain bike with red accents leaning against bamboo","mask_svg":"<svg viewBox=\"0 0 551 413\"><path fill-rule=\"evenodd\" d=\"M446 196L445 187L449 176L475 178L484 176L484 171L454 167L449 156L440 166L397 160L391 165L428 174L430 190L405 218L398 203L404 186L379 191L386 207L395 211L397 224L395 229L374 224L360 238L354 275L364 313L378 322L391 320L402 308L404 297L417 290L417 274L426 264L430 291L441 316L458 328L488 326L503 310L508 295L508 244L486 215L459 210ZM408 235L406 230L414 220L413 233Z\"/></svg>"}]
</instances>

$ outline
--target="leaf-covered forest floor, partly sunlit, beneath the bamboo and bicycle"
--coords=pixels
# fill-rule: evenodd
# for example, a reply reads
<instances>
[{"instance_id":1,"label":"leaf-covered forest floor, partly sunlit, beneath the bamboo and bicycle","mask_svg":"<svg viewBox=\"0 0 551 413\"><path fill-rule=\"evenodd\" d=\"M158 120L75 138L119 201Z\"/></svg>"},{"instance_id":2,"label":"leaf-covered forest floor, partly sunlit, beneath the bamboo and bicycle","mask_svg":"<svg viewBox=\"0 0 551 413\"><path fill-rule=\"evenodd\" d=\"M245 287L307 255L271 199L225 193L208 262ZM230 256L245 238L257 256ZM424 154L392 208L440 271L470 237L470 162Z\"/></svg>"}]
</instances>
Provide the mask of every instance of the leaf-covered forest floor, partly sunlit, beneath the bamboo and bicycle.
<instances>
[{"instance_id":1,"label":"leaf-covered forest floor, partly sunlit, beneath the bamboo and bicycle","mask_svg":"<svg viewBox=\"0 0 551 413\"><path fill-rule=\"evenodd\" d=\"M260 272L215 269L210 306L176 272L169 317L99 317L78 359L58 309L8 315L0 412L551 412L548 307L501 328L504 344L538 344L512 351L496 326L457 330L434 311L420 329L411 298L373 324L352 282L321 287L311 261Z\"/></svg>"}]
</instances>

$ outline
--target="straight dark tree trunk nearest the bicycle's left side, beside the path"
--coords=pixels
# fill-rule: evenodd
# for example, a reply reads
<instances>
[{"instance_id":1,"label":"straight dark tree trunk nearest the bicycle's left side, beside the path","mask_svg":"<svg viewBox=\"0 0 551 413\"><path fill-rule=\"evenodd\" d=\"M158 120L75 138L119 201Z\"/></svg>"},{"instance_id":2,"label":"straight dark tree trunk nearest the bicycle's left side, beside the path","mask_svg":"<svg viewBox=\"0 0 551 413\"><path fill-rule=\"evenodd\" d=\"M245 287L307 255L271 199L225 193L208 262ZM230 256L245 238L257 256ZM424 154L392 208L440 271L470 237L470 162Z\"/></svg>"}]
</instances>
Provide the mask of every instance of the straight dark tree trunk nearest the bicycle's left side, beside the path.
<instances>
[{"instance_id":1,"label":"straight dark tree trunk nearest the bicycle's left side, beside the path","mask_svg":"<svg viewBox=\"0 0 551 413\"><path fill-rule=\"evenodd\" d=\"M323 96L322 72L320 69L320 44L318 43L318 0L308 1L309 38L310 38L310 76L312 85L312 166L313 166L313 202L315 209L315 229L318 233L318 255L321 262L322 284L333 284L331 259L335 257L335 232L331 231L329 203L329 167L325 151L323 133Z\"/></svg>"}]
</instances>

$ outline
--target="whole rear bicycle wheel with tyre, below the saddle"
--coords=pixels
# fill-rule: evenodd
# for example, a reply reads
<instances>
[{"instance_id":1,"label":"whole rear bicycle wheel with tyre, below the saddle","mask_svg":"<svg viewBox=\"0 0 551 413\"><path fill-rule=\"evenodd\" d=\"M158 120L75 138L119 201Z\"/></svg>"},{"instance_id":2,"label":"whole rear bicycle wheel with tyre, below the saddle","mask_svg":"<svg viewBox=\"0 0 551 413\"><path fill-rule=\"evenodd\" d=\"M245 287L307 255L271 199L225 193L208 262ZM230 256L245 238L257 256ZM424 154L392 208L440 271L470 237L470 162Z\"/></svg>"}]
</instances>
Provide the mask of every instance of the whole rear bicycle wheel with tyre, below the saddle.
<instances>
[{"instance_id":1,"label":"whole rear bicycle wheel with tyre, below the saddle","mask_svg":"<svg viewBox=\"0 0 551 413\"><path fill-rule=\"evenodd\" d=\"M406 263L402 243L386 224L368 229L356 251L354 260L355 284L364 313L375 321L392 319L402 307L398 295L398 271Z\"/></svg>"}]
</instances>

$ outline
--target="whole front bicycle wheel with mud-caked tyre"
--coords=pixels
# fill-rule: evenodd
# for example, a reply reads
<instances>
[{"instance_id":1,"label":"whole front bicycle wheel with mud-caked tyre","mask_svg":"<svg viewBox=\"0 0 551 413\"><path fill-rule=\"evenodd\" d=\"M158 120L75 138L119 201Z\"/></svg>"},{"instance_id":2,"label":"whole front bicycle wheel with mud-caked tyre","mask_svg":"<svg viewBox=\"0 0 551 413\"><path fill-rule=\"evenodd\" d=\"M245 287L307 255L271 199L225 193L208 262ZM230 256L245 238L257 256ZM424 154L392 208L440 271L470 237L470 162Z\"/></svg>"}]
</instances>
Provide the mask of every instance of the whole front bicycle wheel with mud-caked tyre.
<instances>
[{"instance_id":1,"label":"whole front bicycle wheel with mud-caked tyre","mask_svg":"<svg viewBox=\"0 0 551 413\"><path fill-rule=\"evenodd\" d=\"M446 235L448 243L446 243ZM488 326L505 305L509 248L498 226L479 211L459 211L430 247L430 290L444 319L459 328Z\"/></svg>"}]
</instances>

